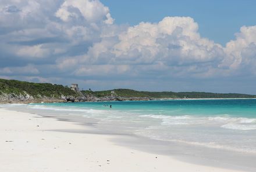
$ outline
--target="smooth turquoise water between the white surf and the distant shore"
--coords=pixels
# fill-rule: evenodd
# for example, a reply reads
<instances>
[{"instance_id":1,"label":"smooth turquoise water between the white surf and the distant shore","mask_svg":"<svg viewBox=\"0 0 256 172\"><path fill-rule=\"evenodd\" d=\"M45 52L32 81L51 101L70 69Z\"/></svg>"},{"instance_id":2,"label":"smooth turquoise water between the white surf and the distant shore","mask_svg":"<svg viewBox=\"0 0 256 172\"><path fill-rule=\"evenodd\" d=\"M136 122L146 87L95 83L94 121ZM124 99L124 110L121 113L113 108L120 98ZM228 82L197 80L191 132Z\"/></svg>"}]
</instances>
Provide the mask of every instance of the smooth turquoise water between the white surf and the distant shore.
<instances>
[{"instance_id":1,"label":"smooth turquoise water between the white surf and the distant shore","mask_svg":"<svg viewBox=\"0 0 256 172\"><path fill-rule=\"evenodd\" d=\"M34 104L35 105L35 104ZM41 105L41 104L37 104ZM162 115L230 115L256 118L256 99L229 100L162 100L162 101L112 101L87 103L44 104L48 107L81 108L105 110L112 105L112 111L141 111L142 114ZM108 105L105 107L104 105Z\"/></svg>"}]
</instances>

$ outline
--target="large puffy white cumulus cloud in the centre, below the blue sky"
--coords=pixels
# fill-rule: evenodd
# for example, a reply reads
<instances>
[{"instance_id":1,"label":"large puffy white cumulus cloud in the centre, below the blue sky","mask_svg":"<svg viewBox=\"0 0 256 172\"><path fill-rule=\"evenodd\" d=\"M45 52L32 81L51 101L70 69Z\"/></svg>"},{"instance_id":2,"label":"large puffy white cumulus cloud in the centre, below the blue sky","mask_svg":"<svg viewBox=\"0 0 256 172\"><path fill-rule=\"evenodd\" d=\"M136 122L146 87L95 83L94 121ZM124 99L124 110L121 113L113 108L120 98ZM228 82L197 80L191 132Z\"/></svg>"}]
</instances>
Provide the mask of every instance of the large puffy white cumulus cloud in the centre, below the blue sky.
<instances>
[{"instance_id":1,"label":"large puffy white cumulus cloud in the centre, below the blue sky","mask_svg":"<svg viewBox=\"0 0 256 172\"><path fill-rule=\"evenodd\" d=\"M98 68L98 64L102 67L102 63L116 67L129 65L133 70L126 72L132 76L143 72L147 74L148 71L151 75L169 75L166 74L169 72L173 76L185 76L193 72L198 75L200 71L206 75L212 68L218 68L223 58L225 52L222 46L201 38L198 24L193 19L165 17L159 23L143 22L111 37L102 38L86 54L76 58L76 63L95 65L95 68ZM67 59L60 61L60 64L64 64ZM162 71L163 68L166 71ZM87 72L84 70L83 74L87 75Z\"/></svg>"}]
</instances>

